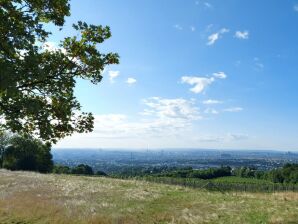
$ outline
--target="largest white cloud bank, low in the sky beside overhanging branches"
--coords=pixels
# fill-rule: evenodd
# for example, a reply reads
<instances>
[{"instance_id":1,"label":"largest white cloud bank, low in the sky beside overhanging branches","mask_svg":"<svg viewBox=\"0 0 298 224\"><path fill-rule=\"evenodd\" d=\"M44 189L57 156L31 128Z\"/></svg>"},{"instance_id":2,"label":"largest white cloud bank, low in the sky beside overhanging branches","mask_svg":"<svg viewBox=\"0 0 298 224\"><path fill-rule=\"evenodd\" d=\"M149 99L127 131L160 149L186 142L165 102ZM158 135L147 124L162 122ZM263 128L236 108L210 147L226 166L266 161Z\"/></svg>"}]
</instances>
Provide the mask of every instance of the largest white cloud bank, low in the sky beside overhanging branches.
<instances>
[{"instance_id":1,"label":"largest white cloud bank, low in the sky beside overhanging branches","mask_svg":"<svg viewBox=\"0 0 298 224\"><path fill-rule=\"evenodd\" d=\"M76 138L135 139L168 138L183 134L192 127L192 122L201 119L193 100L183 98L144 99L145 109L141 118L133 121L125 114L95 115L92 133L74 134Z\"/></svg>"}]
</instances>

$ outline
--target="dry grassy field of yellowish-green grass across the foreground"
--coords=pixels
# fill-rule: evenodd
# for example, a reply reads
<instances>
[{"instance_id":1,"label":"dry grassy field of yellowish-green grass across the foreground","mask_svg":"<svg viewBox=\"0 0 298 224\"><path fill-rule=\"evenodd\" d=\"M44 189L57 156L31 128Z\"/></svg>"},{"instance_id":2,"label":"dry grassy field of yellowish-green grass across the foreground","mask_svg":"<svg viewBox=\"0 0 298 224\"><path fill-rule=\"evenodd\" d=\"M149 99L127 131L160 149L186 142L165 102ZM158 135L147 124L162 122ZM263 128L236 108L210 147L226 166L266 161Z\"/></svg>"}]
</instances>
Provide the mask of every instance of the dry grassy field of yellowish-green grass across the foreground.
<instances>
[{"instance_id":1,"label":"dry grassy field of yellowish-green grass across the foreground","mask_svg":"<svg viewBox=\"0 0 298 224\"><path fill-rule=\"evenodd\" d=\"M298 223L298 193L0 170L0 223Z\"/></svg>"}]
</instances>

